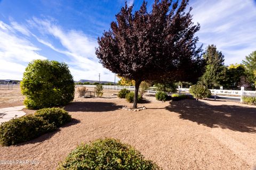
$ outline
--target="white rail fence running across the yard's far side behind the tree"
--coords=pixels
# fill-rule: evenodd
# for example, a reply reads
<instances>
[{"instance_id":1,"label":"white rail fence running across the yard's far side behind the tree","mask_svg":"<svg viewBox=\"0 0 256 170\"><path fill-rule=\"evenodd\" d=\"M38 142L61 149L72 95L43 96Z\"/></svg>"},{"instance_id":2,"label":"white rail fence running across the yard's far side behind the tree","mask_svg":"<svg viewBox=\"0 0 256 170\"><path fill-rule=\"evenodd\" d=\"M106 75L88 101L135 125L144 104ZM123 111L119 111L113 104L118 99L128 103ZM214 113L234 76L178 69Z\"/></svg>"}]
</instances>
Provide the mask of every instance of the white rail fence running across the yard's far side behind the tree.
<instances>
[{"instance_id":1,"label":"white rail fence running across the yard's far side behind the tree","mask_svg":"<svg viewBox=\"0 0 256 170\"><path fill-rule=\"evenodd\" d=\"M76 85L76 87L89 87L94 88L96 85ZM113 90L121 90L121 89L128 89L133 90L135 89L134 86L110 86L110 85L102 85L104 89L113 89ZM242 96L255 96L256 97L256 91L246 91L242 87L241 90L219 90L219 89L209 89L211 91L212 96L214 99L217 97L227 97L227 98L235 98L240 99L242 102ZM189 88L178 88L177 91L179 93L186 93L189 94ZM155 93L156 88L150 87L148 89L148 92Z\"/></svg>"}]
</instances>

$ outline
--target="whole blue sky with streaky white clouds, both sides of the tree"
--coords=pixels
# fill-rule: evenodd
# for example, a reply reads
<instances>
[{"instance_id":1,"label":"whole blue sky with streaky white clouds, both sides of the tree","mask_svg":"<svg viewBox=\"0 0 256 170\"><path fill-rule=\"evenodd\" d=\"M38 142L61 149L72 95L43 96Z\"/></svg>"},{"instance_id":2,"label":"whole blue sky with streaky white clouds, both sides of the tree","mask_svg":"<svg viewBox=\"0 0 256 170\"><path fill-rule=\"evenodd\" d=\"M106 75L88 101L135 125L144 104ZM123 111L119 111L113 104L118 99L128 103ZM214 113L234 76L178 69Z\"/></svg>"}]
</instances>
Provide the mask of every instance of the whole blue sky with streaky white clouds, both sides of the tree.
<instances>
[{"instance_id":1,"label":"whole blue sky with streaky white clouds, both sides of the tree","mask_svg":"<svg viewBox=\"0 0 256 170\"><path fill-rule=\"evenodd\" d=\"M75 80L114 81L95 56L97 37L108 30L125 0L0 0L0 79L22 79L28 62L66 62ZM142 1L130 0L138 9ZM153 1L148 1L148 6ZM256 50L256 3L253 0L191 0L197 33L205 48L217 46L225 64L240 63Z\"/></svg>"}]
</instances>

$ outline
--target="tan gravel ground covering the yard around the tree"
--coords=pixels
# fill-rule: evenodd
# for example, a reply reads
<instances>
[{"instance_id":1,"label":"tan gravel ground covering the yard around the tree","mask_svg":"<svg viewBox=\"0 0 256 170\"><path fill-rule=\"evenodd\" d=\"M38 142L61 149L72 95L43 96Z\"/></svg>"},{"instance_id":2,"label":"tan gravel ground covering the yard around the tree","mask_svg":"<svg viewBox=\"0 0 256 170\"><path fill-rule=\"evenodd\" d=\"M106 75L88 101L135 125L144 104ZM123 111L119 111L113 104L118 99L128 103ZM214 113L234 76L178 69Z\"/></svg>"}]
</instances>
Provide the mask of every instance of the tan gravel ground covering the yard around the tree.
<instances>
[{"instance_id":1,"label":"tan gravel ground covering the yard around the tree","mask_svg":"<svg viewBox=\"0 0 256 170\"><path fill-rule=\"evenodd\" d=\"M256 164L256 107L231 101L161 102L145 96L139 105L147 109L131 112L122 110L131 104L114 93L105 90L103 98L76 96L65 107L73 122L18 146L0 147L0 160L15 161L0 163L0 169L55 169L79 143L106 137L129 143L166 170L241 170Z\"/></svg>"}]
</instances>

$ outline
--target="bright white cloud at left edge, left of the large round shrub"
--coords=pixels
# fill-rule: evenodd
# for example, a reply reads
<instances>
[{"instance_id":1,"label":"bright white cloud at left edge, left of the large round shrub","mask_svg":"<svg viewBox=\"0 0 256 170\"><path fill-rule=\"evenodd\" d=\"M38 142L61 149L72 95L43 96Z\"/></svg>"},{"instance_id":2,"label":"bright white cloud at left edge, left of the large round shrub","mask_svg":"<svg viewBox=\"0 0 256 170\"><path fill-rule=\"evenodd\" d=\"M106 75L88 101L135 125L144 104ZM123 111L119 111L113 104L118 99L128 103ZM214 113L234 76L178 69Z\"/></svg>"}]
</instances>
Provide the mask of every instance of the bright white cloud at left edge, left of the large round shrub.
<instances>
[{"instance_id":1,"label":"bright white cloud at left edge, left of the large round shrub","mask_svg":"<svg viewBox=\"0 0 256 170\"><path fill-rule=\"evenodd\" d=\"M21 80L25 66L20 63L46 59L38 53L39 48L18 36L17 31L28 33L16 23L13 26L0 21L0 79Z\"/></svg>"}]
</instances>

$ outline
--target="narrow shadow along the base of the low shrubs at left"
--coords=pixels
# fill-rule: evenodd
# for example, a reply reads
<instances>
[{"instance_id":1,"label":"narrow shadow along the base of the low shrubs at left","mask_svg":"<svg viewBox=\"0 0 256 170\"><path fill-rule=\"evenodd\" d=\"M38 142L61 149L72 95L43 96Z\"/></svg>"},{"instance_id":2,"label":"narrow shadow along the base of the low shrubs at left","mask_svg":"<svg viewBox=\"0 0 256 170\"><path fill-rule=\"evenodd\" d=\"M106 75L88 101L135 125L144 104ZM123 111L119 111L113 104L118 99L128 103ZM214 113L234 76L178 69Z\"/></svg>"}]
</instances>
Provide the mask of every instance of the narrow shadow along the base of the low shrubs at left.
<instances>
[{"instance_id":1,"label":"narrow shadow along the base of the low shrubs at left","mask_svg":"<svg viewBox=\"0 0 256 170\"><path fill-rule=\"evenodd\" d=\"M78 123L80 123L79 120L77 120L75 118L72 118L71 122L69 122L69 123L67 123L67 124L65 124L63 126L60 126L59 128L57 128L57 130L55 130L53 132L45 133L45 134L43 134L43 135L41 135L41 136L39 136L39 137L37 137L35 139L27 141L27 142L19 143L17 146L23 146L23 145L27 145L29 143L39 143L40 144L41 142L43 142L43 141L45 141L47 139L50 139L55 133L60 132L60 128L66 128L68 126L73 126L73 125L78 124Z\"/></svg>"}]
</instances>

